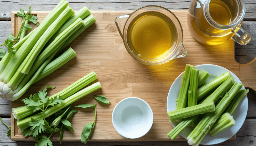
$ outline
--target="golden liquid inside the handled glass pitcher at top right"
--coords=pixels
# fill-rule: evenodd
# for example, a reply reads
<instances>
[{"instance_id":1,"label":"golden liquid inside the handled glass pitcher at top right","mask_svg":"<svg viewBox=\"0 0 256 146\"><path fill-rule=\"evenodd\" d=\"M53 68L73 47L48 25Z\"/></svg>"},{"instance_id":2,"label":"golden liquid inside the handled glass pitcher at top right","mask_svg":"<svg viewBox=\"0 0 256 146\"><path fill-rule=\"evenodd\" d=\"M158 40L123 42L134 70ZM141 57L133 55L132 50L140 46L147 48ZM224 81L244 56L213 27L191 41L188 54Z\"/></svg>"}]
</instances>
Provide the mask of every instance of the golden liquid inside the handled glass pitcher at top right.
<instances>
[{"instance_id":1,"label":"golden liquid inside the handled glass pitcher at top right","mask_svg":"<svg viewBox=\"0 0 256 146\"><path fill-rule=\"evenodd\" d=\"M224 0L223 0L224 1ZM220 0L211 0L209 12L214 21L222 25L229 25L232 15L229 7ZM204 18L203 8L199 9L192 16L188 13L188 28L192 36L201 43L216 45L226 42L234 33L229 30L219 30L212 27Z\"/></svg>"}]
</instances>

